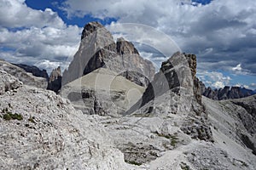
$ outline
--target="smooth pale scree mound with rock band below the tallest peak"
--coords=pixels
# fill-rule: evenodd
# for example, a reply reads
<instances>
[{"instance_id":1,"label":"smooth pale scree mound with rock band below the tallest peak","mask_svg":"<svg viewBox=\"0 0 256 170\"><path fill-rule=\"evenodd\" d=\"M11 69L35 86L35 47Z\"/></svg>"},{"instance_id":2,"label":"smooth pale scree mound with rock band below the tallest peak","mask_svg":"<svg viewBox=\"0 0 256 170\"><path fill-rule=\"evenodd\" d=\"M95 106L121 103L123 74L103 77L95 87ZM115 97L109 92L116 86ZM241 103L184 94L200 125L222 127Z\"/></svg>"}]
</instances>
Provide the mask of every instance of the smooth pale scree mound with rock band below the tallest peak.
<instances>
[{"instance_id":1,"label":"smooth pale scree mound with rock band below the tallest peak","mask_svg":"<svg viewBox=\"0 0 256 170\"><path fill-rule=\"evenodd\" d=\"M89 115L120 116L143 95L145 88L105 68L67 83L61 95Z\"/></svg>"}]
</instances>

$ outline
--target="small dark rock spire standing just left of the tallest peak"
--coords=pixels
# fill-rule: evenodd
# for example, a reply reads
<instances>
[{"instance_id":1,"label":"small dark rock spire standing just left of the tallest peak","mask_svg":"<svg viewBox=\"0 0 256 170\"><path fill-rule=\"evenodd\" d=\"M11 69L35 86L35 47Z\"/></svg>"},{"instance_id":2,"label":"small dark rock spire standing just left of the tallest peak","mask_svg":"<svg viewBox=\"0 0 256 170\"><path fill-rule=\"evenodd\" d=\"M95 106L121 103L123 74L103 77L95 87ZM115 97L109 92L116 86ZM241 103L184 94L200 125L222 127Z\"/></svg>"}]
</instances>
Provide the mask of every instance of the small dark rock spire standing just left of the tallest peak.
<instances>
[{"instance_id":1,"label":"small dark rock spire standing just left of the tallest peak","mask_svg":"<svg viewBox=\"0 0 256 170\"><path fill-rule=\"evenodd\" d=\"M61 80L62 80L62 74L61 74L61 67L54 69L51 71L49 75L49 82L47 89L54 91L55 93L58 93L61 89Z\"/></svg>"}]
</instances>

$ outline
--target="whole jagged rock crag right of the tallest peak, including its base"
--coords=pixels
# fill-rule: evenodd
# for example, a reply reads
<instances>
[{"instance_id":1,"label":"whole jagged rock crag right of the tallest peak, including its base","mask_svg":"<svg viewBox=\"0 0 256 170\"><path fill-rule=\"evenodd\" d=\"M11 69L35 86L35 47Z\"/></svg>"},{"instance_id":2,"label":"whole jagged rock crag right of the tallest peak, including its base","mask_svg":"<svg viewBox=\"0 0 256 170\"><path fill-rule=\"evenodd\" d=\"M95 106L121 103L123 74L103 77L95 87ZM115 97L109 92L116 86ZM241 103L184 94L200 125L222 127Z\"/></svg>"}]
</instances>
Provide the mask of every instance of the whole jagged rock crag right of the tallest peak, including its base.
<instances>
[{"instance_id":1,"label":"whole jagged rock crag right of the tallest peak, including its base","mask_svg":"<svg viewBox=\"0 0 256 170\"><path fill-rule=\"evenodd\" d=\"M201 104L201 88L196 74L196 56L177 52L162 63L160 71L146 88L143 97L126 111L127 115L173 115L177 126L193 139L213 141L207 113Z\"/></svg>"}]
</instances>

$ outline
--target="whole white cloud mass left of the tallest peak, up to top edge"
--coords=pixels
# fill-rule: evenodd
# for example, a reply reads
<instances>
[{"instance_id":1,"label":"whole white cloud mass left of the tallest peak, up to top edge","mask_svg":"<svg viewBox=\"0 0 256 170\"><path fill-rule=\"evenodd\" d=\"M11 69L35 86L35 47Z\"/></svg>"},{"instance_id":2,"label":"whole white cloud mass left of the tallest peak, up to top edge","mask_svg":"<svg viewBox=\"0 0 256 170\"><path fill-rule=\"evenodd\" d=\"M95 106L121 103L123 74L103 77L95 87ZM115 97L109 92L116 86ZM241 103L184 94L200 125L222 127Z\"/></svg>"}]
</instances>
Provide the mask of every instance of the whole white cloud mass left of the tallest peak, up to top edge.
<instances>
[{"instance_id":1,"label":"whole white cloud mass left of the tallest peak, up to top edge","mask_svg":"<svg viewBox=\"0 0 256 170\"><path fill-rule=\"evenodd\" d=\"M67 26L51 9L28 8L25 0L3 0L0 6L0 58L49 72L78 49L81 28Z\"/></svg>"}]
</instances>

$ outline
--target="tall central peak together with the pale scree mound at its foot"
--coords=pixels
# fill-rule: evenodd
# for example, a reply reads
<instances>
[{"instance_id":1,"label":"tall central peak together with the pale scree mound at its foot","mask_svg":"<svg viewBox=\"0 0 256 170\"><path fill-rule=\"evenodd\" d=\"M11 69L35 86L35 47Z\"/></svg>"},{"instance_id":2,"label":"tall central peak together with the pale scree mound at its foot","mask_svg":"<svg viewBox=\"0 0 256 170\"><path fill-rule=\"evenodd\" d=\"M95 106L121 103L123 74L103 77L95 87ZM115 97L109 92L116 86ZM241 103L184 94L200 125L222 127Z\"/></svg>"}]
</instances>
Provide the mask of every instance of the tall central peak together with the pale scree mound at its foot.
<instances>
[{"instance_id":1,"label":"tall central peak together with the pale scree mound at its foot","mask_svg":"<svg viewBox=\"0 0 256 170\"><path fill-rule=\"evenodd\" d=\"M96 75L96 71L99 74ZM91 78L92 75L95 76ZM78 81L80 77L82 81ZM122 80L123 87L108 86L108 82L120 77L127 79ZM154 65L143 59L131 42L124 38L114 42L106 28L91 22L84 26L79 51L63 73L61 94L86 114L118 116L137 102L153 77ZM95 83L99 79L105 80L101 82L105 86L103 89L95 84L86 85L86 82Z\"/></svg>"}]
</instances>

